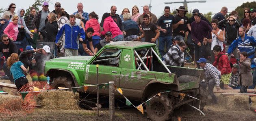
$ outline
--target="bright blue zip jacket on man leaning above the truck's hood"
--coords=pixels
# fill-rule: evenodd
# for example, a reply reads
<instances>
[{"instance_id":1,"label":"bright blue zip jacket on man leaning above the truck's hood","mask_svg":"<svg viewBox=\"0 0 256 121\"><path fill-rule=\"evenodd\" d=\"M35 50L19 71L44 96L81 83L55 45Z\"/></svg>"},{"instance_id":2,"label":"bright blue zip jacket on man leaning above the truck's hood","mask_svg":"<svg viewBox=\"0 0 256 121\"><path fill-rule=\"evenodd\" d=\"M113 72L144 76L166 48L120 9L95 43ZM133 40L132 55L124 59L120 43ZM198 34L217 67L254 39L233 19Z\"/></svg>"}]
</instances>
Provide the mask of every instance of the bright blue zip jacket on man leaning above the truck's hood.
<instances>
[{"instance_id":1,"label":"bright blue zip jacket on man leaning above the truck's hood","mask_svg":"<svg viewBox=\"0 0 256 121\"><path fill-rule=\"evenodd\" d=\"M59 43L61 36L65 33L65 47L67 49L78 50L79 47L79 38L85 40L85 31L82 29L80 25L75 23L74 26L70 25L70 23L65 23L58 34L56 35L55 43Z\"/></svg>"}]
</instances>

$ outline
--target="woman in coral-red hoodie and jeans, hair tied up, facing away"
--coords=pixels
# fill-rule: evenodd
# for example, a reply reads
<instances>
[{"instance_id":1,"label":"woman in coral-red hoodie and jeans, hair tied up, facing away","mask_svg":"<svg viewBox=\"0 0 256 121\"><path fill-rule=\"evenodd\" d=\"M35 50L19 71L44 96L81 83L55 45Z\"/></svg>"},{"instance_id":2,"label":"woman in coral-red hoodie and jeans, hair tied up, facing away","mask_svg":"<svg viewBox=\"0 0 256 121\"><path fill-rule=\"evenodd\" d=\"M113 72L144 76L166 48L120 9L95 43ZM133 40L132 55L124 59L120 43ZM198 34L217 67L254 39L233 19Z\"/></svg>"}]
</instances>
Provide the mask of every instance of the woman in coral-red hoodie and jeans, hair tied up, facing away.
<instances>
[{"instance_id":1,"label":"woman in coral-red hoodie and jeans, hair tied up, facing away","mask_svg":"<svg viewBox=\"0 0 256 121\"><path fill-rule=\"evenodd\" d=\"M85 31L90 27L93 28L94 30L94 33L92 36L93 48L90 49L93 53L94 53L94 49L96 48L96 46L99 44L101 40L100 24L98 19L99 19L98 15L93 11L89 14L89 21L87 21L85 24Z\"/></svg>"}]
</instances>

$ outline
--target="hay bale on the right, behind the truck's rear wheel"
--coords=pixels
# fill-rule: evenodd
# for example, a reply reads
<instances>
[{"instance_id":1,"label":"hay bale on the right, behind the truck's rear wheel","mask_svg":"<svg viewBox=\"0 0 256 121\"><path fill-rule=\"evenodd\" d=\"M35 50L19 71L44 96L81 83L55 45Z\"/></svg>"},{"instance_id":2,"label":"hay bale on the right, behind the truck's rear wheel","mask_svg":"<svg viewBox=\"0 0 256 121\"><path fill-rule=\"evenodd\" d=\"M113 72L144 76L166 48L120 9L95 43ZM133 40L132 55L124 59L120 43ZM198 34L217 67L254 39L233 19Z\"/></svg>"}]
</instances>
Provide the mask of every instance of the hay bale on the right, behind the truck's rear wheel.
<instances>
[{"instance_id":1,"label":"hay bale on the right, behind the truck's rear wheel","mask_svg":"<svg viewBox=\"0 0 256 121\"><path fill-rule=\"evenodd\" d=\"M219 104L231 111L250 110L249 96L246 95L224 96L221 94Z\"/></svg>"}]
</instances>

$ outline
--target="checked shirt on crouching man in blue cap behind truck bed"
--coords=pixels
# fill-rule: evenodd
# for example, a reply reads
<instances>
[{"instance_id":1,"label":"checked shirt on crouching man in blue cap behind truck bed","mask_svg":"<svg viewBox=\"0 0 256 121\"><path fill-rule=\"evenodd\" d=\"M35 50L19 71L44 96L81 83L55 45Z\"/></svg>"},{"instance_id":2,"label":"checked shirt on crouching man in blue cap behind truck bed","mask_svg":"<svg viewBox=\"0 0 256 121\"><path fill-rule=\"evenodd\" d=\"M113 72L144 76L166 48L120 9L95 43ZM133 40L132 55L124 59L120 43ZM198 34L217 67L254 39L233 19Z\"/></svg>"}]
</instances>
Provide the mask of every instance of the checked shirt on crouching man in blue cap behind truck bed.
<instances>
[{"instance_id":1,"label":"checked shirt on crouching man in blue cap behind truck bed","mask_svg":"<svg viewBox=\"0 0 256 121\"><path fill-rule=\"evenodd\" d=\"M221 75L221 73L218 69L216 69L213 65L206 63L204 67L204 73L207 80L214 78L216 86L219 87L219 83L220 83L219 76Z\"/></svg>"}]
</instances>

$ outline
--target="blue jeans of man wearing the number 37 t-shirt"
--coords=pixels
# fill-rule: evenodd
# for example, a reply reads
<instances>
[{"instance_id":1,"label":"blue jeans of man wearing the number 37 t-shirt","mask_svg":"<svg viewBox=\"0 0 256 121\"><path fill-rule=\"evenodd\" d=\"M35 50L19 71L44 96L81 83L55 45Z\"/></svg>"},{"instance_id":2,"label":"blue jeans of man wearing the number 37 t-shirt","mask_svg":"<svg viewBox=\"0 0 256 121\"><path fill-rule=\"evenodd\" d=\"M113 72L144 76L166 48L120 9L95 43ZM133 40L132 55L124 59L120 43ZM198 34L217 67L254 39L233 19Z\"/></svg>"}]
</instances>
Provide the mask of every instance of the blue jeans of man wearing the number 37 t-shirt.
<instances>
[{"instance_id":1,"label":"blue jeans of man wearing the number 37 t-shirt","mask_svg":"<svg viewBox=\"0 0 256 121\"><path fill-rule=\"evenodd\" d=\"M166 49L172 44L171 36L161 36L159 37L159 46L158 49L160 51L161 56L163 57L165 55L164 49L166 46ZM168 52L168 50L167 50Z\"/></svg>"}]
</instances>

